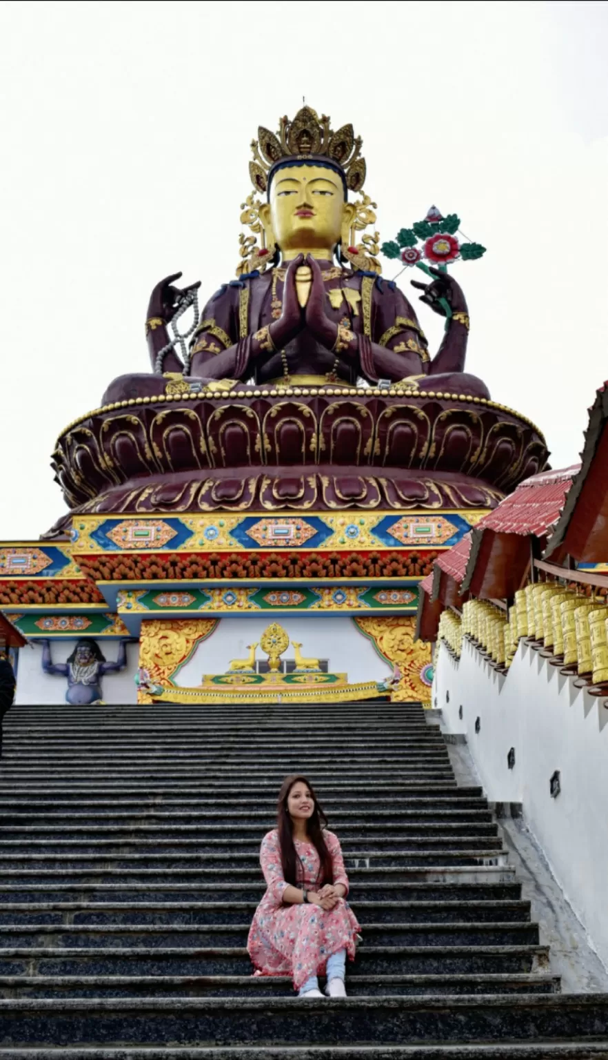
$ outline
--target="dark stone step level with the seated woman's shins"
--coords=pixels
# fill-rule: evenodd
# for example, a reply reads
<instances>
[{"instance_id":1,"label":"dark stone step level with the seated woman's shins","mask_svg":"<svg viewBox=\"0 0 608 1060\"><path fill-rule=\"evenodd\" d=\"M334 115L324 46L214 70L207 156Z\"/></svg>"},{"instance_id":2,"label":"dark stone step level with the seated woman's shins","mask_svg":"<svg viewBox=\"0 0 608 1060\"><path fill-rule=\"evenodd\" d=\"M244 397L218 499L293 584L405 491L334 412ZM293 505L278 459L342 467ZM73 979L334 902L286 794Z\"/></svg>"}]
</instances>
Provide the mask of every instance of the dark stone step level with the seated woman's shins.
<instances>
[{"instance_id":1,"label":"dark stone step level with the seated woman's shins","mask_svg":"<svg viewBox=\"0 0 608 1060\"><path fill-rule=\"evenodd\" d=\"M2 940L3 941L3 940ZM0 948L2 975L251 975L244 947L141 946ZM365 943L347 975L548 974L546 946L373 946Z\"/></svg>"}]
</instances>

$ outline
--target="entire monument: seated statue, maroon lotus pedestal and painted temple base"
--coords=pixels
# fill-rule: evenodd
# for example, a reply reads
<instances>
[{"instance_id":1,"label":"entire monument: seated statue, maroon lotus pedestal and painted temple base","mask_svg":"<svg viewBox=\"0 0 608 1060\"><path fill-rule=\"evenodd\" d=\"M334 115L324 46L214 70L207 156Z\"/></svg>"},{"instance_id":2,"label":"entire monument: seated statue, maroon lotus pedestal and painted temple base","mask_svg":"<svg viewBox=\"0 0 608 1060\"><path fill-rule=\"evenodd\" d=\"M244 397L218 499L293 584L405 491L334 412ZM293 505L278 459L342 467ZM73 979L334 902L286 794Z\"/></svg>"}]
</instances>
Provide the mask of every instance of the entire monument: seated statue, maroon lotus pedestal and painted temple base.
<instances>
[{"instance_id":1,"label":"entire monument: seated statue, maroon lotus pedestal and painted temple base","mask_svg":"<svg viewBox=\"0 0 608 1060\"><path fill-rule=\"evenodd\" d=\"M17 702L430 704L421 583L548 452L465 370L447 265L484 248L434 207L382 245L426 273L432 356L361 235L365 176L352 126L309 107L258 129L237 279L201 312L199 284L155 286L151 370L57 439L67 514L0 544Z\"/></svg>"}]
</instances>

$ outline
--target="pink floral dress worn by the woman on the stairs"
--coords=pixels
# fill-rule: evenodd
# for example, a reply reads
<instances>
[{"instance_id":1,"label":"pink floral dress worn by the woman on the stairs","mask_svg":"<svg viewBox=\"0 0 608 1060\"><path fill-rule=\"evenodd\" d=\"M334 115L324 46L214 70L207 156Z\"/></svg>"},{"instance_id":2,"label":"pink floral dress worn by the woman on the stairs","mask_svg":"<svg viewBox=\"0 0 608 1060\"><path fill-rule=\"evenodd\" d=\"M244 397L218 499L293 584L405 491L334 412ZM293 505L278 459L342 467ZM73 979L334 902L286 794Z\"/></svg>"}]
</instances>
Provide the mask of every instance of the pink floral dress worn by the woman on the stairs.
<instances>
[{"instance_id":1,"label":"pink floral dress worn by the woman on the stairs","mask_svg":"<svg viewBox=\"0 0 608 1060\"><path fill-rule=\"evenodd\" d=\"M334 883L341 883L348 893L348 878L338 837L325 832L325 843L332 855ZM323 885L319 878L320 859L312 843L294 840L298 865L298 886L317 890ZM327 957L346 950L355 957L355 938L360 931L351 906L340 899L326 912L318 905L283 903L288 886L283 879L279 832L268 832L262 841L260 863L267 883L266 894L255 911L247 940L249 956L256 975L290 975L297 990L311 975L325 969Z\"/></svg>"}]
</instances>

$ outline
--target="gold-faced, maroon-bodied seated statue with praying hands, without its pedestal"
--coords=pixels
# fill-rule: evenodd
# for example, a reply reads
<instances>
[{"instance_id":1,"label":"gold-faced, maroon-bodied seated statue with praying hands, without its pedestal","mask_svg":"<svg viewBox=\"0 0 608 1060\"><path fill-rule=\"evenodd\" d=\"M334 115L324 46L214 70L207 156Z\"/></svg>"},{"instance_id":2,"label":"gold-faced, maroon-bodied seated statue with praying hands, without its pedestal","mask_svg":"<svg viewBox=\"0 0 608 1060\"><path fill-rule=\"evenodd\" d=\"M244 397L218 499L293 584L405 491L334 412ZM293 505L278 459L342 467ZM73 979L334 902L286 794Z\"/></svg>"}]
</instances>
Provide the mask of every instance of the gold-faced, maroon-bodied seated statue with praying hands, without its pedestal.
<instances>
[{"instance_id":1,"label":"gold-faced, maroon-bodied seated statue with praying hands, without its pedestal","mask_svg":"<svg viewBox=\"0 0 608 1060\"><path fill-rule=\"evenodd\" d=\"M250 195L242 207L252 235L240 236L238 279L207 303L187 348L181 343L183 360L167 325L199 284L174 286L181 273L161 280L146 322L154 374L114 379L104 405L162 393L165 373L220 388L236 379L276 388L407 379L421 392L489 398L485 384L464 372L468 311L455 280L433 270L431 283L414 283L433 311L445 315L446 302L451 308L431 358L410 302L379 275L377 233L355 243L376 215L361 193L365 160L353 127L333 132L328 118L303 107L281 120L278 135L260 128L252 147L250 176L266 201ZM348 193L362 197L352 201Z\"/></svg>"}]
</instances>

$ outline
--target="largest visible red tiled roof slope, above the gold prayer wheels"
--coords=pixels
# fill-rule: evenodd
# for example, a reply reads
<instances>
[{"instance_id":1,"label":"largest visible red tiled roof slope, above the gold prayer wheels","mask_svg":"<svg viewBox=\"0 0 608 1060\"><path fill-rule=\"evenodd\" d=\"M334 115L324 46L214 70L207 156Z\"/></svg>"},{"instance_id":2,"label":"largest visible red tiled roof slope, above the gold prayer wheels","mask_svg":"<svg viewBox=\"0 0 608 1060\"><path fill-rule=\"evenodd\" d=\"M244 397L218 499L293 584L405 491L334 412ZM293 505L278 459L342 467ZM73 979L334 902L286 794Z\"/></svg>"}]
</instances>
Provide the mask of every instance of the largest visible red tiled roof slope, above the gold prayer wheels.
<instances>
[{"instance_id":1,"label":"largest visible red tiled roof slope, above the gold prayer wheels","mask_svg":"<svg viewBox=\"0 0 608 1060\"><path fill-rule=\"evenodd\" d=\"M480 519L476 529L544 537L559 518L579 466L574 464L526 478L498 508Z\"/></svg>"}]
</instances>

